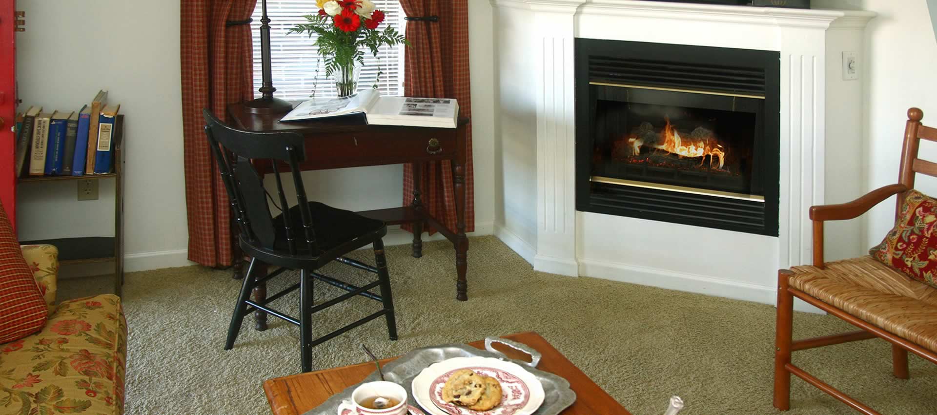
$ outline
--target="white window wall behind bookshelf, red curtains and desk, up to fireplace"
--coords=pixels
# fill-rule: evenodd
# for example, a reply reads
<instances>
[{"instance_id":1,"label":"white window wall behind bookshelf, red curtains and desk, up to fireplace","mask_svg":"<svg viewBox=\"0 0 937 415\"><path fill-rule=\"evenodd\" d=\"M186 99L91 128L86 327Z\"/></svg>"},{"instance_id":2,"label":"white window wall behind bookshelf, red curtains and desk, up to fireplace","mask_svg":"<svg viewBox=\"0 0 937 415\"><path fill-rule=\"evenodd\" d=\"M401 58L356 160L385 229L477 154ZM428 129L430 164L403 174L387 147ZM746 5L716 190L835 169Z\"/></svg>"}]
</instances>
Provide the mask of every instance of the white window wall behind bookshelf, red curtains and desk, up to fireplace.
<instances>
[{"instance_id":1,"label":"white window wall behind bookshelf, red curtains and desk, up to fireplace","mask_svg":"<svg viewBox=\"0 0 937 415\"><path fill-rule=\"evenodd\" d=\"M26 32L17 35L24 106L77 111L103 88L126 115L127 269L189 263L179 2L19 0L17 9L27 17ZM469 1L476 234L490 233L495 217L491 13L487 2ZM336 207L394 207L403 200L402 170L397 165L310 172L305 183L310 198ZM112 189L112 179L103 180L99 200L77 201L74 183L21 186L21 238L111 236Z\"/></svg>"}]
</instances>

